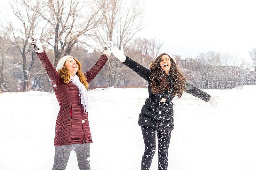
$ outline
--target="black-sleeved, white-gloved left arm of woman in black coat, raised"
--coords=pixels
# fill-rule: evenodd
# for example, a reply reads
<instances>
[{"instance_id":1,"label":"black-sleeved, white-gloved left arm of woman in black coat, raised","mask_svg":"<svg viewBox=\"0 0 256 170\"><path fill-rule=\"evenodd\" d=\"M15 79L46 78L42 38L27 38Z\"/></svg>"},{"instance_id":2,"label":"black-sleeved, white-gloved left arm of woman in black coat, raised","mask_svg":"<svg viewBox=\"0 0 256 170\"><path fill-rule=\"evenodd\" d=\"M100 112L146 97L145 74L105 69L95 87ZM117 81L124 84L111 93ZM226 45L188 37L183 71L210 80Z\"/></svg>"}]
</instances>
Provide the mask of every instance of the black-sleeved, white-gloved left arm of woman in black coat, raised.
<instances>
[{"instance_id":1,"label":"black-sleeved, white-gloved left arm of woman in black coat, raised","mask_svg":"<svg viewBox=\"0 0 256 170\"><path fill-rule=\"evenodd\" d=\"M113 55L115 55L116 58L118 58L124 65L135 71L135 73L137 73L140 77L149 81L150 70L125 56L123 46L121 46L121 50L119 50L116 46L110 49Z\"/></svg>"}]
</instances>

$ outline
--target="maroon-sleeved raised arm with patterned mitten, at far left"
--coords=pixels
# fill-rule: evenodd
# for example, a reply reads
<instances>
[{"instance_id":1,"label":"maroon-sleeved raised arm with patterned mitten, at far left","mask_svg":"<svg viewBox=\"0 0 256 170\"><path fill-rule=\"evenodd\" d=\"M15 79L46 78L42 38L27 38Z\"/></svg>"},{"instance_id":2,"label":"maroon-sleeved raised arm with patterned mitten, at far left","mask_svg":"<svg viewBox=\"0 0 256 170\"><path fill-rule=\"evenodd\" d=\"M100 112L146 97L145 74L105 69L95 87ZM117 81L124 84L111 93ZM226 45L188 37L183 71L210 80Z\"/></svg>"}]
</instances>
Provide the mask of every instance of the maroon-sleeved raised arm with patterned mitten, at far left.
<instances>
[{"instance_id":1,"label":"maroon-sleeved raised arm with patterned mitten, at far left","mask_svg":"<svg viewBox=\"0 0 256 170\"><path fill-rule=\"evenodd\" d=\"M53 67L51 61L49 60L48 56L46 55L45 51L42 48L41 42L36 35L31 37L31 45L36 50L36 55L38 56L39 60L44 66L44 69L47 72L47 76L52 81L53 88L59 88L61 79L58 72Z\"/></svg>"}]
</instances>

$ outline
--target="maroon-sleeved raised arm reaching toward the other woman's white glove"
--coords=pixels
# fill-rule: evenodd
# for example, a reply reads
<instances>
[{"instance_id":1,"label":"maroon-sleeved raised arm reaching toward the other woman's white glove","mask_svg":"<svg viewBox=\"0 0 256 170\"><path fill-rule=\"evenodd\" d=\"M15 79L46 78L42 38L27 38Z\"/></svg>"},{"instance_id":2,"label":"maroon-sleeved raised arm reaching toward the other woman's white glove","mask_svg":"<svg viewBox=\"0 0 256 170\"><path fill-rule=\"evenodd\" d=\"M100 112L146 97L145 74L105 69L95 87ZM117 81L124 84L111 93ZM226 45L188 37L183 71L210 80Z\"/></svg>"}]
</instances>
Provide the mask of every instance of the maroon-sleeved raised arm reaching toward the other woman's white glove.
<instances>
[{"instance_id":1,"label":"maroon-sleeved raised arm reaching toward the other woman's white glove","mask_svg":"<svg viewBox=\"0 0 256 170\"><path fill-rule=\"evenodd\" d=\"M100 56L97 62L92 66L91 69L84 72L84 76L87 78L88 83L90 83L93 80L93 78L96 77L96 75L100 72L100 70L103 68L103 66L107 62L108 57L111 54L110 47L113 47L113 42L107 41L104 47L103 54Z\"/></svg>"}]
</instances>

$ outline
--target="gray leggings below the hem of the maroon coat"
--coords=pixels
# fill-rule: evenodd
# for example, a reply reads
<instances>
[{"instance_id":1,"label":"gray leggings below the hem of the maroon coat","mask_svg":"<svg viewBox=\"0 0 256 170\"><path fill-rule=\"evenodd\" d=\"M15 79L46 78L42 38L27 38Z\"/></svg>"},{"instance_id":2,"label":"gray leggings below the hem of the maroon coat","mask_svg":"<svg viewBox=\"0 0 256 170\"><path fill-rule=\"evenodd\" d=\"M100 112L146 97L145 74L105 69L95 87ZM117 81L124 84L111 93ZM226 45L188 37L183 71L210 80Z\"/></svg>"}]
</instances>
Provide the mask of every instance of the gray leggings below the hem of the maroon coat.
<instances>
[{"instance_id":1,"label":"gray leggings below the hem of the maroon coat","mask_svg":"<svg viewBox=\"0 0 256 170\"><path fill-rule=\"evenodd\" d=\"M80 170L90 170L90 143L55 146L52 170L64 170L68 164L70 152L74 149Z\"/></svg>"}]
</instances>

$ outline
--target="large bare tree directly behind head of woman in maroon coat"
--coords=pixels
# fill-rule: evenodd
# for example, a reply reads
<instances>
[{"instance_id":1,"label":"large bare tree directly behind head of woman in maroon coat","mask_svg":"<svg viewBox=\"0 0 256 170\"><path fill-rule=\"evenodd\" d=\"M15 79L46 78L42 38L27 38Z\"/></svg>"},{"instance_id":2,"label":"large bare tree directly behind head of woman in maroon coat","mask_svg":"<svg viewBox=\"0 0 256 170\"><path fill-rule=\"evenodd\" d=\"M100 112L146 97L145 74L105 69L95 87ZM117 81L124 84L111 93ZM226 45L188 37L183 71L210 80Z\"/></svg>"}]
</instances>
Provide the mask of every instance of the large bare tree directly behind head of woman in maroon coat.
<instances>
[{"instance_id":1,"label":"large bare tree directly behind head of woman in maroon coat","mask_svg":"<svg viewBox=\"0 0 256 170\"><path fill-rule=\"evenodd\" d=\"M61 56L70 55L76 43L85 43L82 38L92 36L102 15L96 1L85 3L83 0L44 1L40 9L34 11L49 24L44 41L54 49L55 67Z\"/></svg>"}]
</instances>

